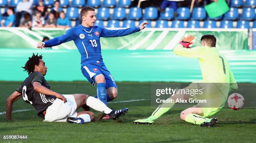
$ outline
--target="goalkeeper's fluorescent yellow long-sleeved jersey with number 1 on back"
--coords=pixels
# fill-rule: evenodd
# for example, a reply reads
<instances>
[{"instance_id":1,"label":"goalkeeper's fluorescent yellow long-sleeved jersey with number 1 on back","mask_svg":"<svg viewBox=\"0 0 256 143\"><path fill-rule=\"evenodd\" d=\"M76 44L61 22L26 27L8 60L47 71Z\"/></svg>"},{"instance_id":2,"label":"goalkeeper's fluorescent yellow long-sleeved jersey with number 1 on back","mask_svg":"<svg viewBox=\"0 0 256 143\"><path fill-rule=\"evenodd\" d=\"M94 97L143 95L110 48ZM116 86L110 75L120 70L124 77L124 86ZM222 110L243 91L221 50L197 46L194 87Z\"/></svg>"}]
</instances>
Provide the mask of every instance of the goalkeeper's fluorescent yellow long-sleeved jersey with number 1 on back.
<instances>
[{"instance_id":1,"label":"goalkeeper's fluorescent yellow long-sleeved jersey with number 1 on back","mask_svg":"<svg viewBox=\"0 0 256 143\"><path fill-rule=\"evenodd\" d=\"M230 89L237 89L236 80L230 70L228 60L220 54L216 47L184 48L178 44L174 47L173 52L184 57L198 58L204 82L230 83Z\"/></svg>"}]
</instances>

